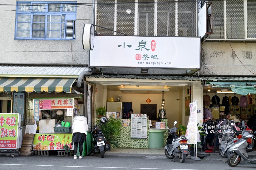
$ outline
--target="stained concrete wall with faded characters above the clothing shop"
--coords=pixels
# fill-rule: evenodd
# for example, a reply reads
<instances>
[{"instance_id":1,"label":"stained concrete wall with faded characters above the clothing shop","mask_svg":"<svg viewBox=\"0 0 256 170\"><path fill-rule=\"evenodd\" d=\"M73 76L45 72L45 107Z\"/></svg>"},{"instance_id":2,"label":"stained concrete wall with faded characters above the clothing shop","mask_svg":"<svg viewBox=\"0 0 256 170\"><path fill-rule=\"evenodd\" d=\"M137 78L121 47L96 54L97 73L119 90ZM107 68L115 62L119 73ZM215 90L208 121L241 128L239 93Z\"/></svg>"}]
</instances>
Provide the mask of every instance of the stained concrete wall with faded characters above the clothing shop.
<instances>
[{"instance_id":1,"label":"stained concrete wall with faded characters above the clothing shop","mask_svg":"<svg viewBox=\"0 0 256 170\"><path fill-rule=\"evenodd\" d=\"M236 76L256 74L256 43L204 42L202 50L201 58L210 71L202 67L199 74Z\"/></svg>"}]
</instances>

